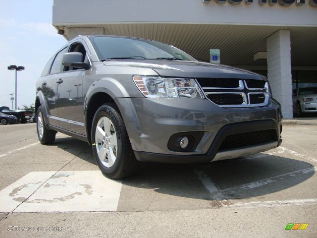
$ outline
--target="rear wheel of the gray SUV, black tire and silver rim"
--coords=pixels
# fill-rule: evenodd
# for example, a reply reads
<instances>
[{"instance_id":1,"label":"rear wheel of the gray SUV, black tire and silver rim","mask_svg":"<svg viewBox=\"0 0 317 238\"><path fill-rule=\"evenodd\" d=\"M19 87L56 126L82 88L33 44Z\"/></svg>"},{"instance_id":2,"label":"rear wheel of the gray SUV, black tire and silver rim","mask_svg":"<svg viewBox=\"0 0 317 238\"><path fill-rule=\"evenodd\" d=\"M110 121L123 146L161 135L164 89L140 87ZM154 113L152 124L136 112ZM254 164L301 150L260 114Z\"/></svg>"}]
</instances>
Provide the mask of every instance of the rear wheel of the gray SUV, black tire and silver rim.
<instances>
[{"instance_id":1,"label":"rear wheel of the gray SUV, black tire and silver rim","mask_svg":"<svg viewBox=\"0 0 317 238\"><path fill-rule=\"evenodd\" d=\"M39 106L36 112L37 122L36 122L36 130L37 137L41 144L47 145L52 144L55 141L56 131L49 130L45 126L42 106Z\"/></svg>"}]
</instances>

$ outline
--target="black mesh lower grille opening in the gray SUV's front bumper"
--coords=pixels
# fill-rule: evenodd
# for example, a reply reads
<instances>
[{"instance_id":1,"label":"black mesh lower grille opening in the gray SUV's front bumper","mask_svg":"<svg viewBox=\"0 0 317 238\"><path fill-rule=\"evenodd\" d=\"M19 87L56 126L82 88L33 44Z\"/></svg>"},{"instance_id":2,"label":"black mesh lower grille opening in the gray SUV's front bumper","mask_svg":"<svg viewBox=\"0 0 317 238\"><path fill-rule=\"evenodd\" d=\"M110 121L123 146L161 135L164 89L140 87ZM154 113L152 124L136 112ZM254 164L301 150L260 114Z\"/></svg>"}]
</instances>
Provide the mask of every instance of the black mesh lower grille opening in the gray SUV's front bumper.
<instances>
[{"instance_id":1,"label":"black mesh lower grille opening in the gray SUV's front bumper","mask_svg":"<svg viewBox=\"0 0 317 238\"><path fill-rule=\"evenodd\" d=\"M274 129L235 134L227 136L223 140L219 151L226 149L238 149L245 146L252 146L272 141L278 141L276 131Z\"/></svg>"}]
</instances>

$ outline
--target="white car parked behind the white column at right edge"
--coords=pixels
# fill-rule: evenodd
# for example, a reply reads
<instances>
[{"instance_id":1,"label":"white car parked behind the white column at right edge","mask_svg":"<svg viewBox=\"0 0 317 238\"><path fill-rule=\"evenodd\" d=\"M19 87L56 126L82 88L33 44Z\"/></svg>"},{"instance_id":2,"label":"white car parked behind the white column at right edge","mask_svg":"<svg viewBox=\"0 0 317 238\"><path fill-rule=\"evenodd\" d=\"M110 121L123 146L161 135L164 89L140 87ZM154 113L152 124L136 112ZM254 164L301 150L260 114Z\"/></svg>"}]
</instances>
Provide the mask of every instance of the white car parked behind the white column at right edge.
<instances>
[{"instance_id":1,"label":"white car parked behind the white column at right edge","mask_svg":"<svg viewBox=\"0 0 317 238\"><path fill-rule=\"evenodd\" d=\"M317 87L293 90L293 113L302 116L307 112L317 112Z\"/></svg>"}]
</instances>

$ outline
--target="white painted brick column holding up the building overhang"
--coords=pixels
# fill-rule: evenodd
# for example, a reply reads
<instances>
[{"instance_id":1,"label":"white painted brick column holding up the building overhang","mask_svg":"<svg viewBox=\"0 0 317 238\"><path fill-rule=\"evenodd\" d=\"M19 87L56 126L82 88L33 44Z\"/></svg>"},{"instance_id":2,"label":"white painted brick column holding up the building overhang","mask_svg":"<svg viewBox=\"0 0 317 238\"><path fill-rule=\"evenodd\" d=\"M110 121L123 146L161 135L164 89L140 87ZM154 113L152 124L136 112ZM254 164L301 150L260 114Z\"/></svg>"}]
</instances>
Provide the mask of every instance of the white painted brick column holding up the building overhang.
<instances>
[{"instance_id":1,"label":"white painted brick column holding up the building overhang","mask_svg":"<svg viewBox=\"0 0 317 238\"><path fill-rule=\"evenodd\" d=\"M281 103L283 117L293 118L290 31L276 31L266 39L266 47L273 97Z\"/></svg>"}]
</instances>

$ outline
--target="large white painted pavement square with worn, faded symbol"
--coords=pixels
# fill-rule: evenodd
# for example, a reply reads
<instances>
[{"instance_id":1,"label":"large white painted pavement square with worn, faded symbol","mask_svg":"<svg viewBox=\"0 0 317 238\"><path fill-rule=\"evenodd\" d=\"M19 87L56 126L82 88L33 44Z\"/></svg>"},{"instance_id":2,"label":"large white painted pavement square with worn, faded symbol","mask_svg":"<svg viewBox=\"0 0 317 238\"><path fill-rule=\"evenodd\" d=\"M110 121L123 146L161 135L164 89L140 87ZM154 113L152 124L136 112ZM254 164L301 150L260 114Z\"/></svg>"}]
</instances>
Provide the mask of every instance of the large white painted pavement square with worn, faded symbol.
<instances>
[{"instance_id":1,"label":"large white painted pavement square with worn, faded symbol","mask_svg":"<svg viewBox=\"0 0 317 238\"><path fill-rule=\"evenodd\" d=\"M0 212L116 211L121 188L99 170L30 172L0 191Z\"/></svg>"}]
</instances>

